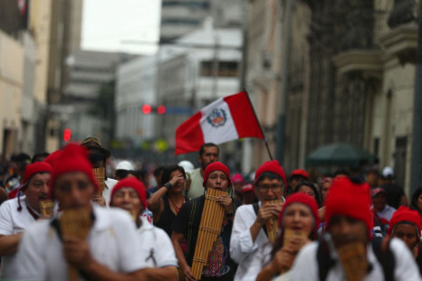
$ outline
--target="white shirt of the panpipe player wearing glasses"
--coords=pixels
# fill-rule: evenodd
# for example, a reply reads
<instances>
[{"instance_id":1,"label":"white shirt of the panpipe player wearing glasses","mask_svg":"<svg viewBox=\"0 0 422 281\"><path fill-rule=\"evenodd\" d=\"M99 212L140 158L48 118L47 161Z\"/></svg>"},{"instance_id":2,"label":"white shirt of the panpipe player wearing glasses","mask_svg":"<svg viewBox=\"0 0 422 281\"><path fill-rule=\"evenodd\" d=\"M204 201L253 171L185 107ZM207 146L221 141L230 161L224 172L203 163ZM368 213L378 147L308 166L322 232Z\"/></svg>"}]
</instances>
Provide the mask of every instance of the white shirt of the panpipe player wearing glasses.
<instances>
[{"instance_id":1,"label":"white shirt of the panpipe player wearing glasses","mask_svg":"<svg viewBox=\"0 0 422 281\"><path fill-rule=\"evenodd\" d=\"M250 228L256 220L252 204L240 206L235 212L232 236L230 238L230 257L238 263L235 273L237 280L255 280L262 269L262 261L256 255L259 248L269 243L264 229L261 229L253 241Z\"/></svg>"}]
</instances>

